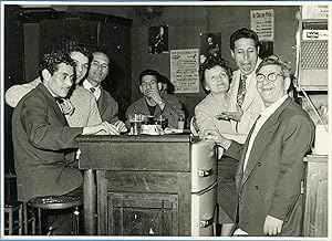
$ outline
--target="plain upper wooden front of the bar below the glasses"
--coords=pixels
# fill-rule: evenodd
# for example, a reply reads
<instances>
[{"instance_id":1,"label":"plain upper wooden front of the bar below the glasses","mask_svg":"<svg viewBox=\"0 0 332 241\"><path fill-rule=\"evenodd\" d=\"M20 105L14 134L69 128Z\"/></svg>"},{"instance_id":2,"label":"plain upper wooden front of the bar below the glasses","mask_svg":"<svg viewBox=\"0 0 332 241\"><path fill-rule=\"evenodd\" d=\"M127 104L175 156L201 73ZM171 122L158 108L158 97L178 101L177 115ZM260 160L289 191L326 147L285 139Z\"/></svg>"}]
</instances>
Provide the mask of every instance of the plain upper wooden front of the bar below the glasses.
<instances>
[{"instance_id":1,"label":"plain upper wooden front of the bar below the glasses","mask_svg":"<svg viewBox=\"0 0 332 241\"><path fill-rule=\"evenodd\" d=\"M80 142L80 168L190 171L188 136L179 138L180 142L177 142L178 138L166 139L167 143L160 142L165 140L162 136L94 136L91 142Z\"/></svg>"}]
</instances>

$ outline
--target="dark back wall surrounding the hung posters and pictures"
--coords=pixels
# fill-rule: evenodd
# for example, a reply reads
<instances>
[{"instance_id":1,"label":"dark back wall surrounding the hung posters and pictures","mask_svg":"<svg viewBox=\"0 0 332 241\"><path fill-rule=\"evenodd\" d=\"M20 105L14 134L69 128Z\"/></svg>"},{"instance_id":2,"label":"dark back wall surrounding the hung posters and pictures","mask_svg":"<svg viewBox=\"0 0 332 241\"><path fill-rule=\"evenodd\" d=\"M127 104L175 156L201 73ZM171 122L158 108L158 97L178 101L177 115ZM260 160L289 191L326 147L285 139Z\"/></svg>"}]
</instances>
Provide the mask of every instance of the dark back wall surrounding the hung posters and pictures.
<instances>
[{"instance_id":1,"label":"dark back wall surrounding the hung posters and pictures","mask_svg":"<svg viewBox=\"0 0 332 241\"><path fill-rule=\"evenodd\" d=\"M234 69L235 62L229 50L229 36L239 28L250 28L250 10L274 10L274 53L295 63L295 31L297 7L164 7L162 17L153 22L139 19L133 23L133 99L141 96L137 88L137 76L144 69L157 69L168 76L169 54L148 54L147 35L151 25L168 25L169 49L199 49L199 33L221 32L221 54ZM136 84L135 84L136 83ZM196 104L205 96L204 92L197 94L178 94L185 104L189 117ZM187 122L188 124L188 122Z\"/></svg>"}]
</instances>

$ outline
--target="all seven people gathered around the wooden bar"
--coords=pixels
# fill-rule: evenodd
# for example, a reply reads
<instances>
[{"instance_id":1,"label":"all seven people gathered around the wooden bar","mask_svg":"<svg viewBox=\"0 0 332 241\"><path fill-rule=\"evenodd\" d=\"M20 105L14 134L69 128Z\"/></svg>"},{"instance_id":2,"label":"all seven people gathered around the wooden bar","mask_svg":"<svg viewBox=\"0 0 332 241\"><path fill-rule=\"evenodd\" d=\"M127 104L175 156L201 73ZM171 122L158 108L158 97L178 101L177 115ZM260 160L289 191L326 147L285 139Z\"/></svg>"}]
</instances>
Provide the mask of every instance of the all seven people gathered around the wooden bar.
<instances>
[{"instance_id":1,"label":"all seven people gathered around the wooden bar","mask_svg":"<svg viewBox=\"0 0 332 241\"><path fill-rule=\"evenodd\" d=\"M219 54L200 65L207 96L196 106L193 126L204 142L218 145L218 221L221 235L300 235L302 159L313 142L313 124L288 94L290 65L277 56L260 60L257 34L239 29L230 36L238 70ZM82 189L75 150L79 135L126 133L116 101L101 83L110 72L103 52L68 44L43 55L39 77L12 86L6 102L12 116L18 199L62 196ZM162 75L139 75L143 96L126 112L168 119L185 117ZM127 125L126 125L127 124Z\"/></svg>"}]
</instances>

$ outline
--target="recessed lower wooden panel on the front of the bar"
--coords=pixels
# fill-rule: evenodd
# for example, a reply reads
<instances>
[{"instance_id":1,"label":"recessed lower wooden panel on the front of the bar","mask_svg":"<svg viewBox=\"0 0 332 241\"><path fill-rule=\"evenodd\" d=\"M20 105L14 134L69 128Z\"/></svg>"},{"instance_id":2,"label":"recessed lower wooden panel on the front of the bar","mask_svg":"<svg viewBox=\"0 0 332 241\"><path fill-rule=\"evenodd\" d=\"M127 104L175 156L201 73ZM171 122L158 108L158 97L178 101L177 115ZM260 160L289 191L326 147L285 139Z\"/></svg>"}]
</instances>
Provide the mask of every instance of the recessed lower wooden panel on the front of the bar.
<instances>
[{"instance_id":1,"label":"recessed lower wooden panel on the front of the bar","mask_svg":"<svg viewBox=\"0 0 332 241\"><path fill-rule=\"evenodd\" d=\"M178 197L108 193L111 235L178 235Z\"/></svg>"}]
</instances>

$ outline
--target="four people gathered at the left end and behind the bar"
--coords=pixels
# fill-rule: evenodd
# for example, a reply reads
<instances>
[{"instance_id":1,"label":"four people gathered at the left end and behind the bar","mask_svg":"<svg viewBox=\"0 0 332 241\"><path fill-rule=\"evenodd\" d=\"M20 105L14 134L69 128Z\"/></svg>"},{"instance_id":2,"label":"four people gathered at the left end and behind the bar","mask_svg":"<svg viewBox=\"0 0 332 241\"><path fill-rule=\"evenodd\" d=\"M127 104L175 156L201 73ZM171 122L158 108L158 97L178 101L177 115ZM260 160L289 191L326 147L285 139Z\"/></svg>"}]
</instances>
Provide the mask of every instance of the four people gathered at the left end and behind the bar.
<instances>
[{"instance_id":1,"label":"four people gathered at the left end and behind the bar","mask_svg":"<svg viewBox=\"0 0 332 241\"><path fill-rule=\"evenodd\" d=\"M105 53L91 53L70 42L43 55L39 77L7 91L6 102L14 107L12 136L19 201L82 192L75 138L127 132L128 126L117 117L116 101L101 85L108 72ZM126 116L163 115L168 126L177 127L177 119L184 117L183 106L162 92L159 76L153 70L142 72L143 97L129 106Z\"/></svg>"}]
</instances>

